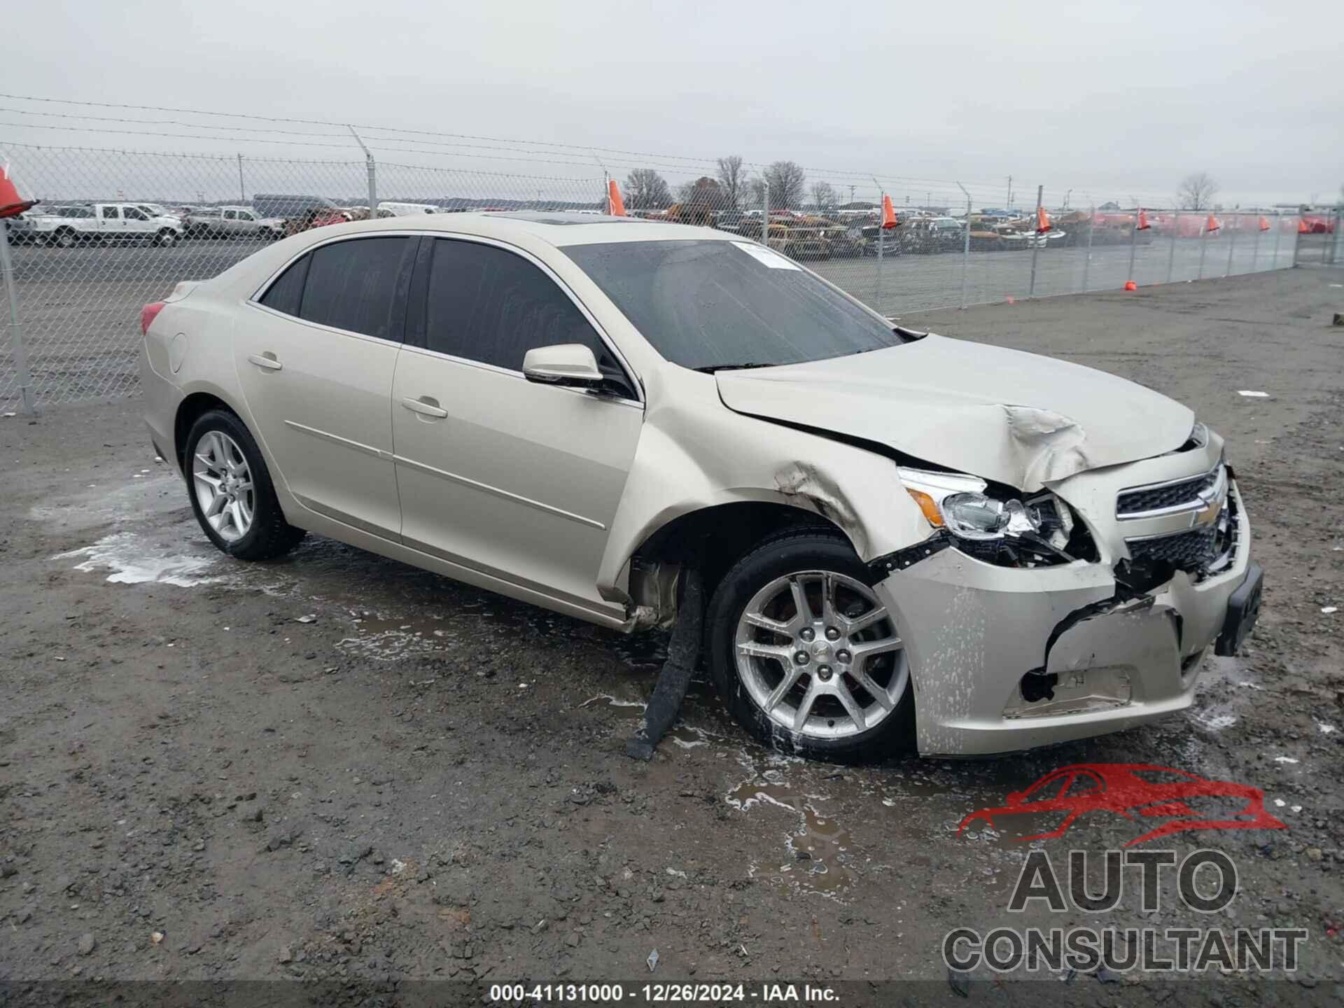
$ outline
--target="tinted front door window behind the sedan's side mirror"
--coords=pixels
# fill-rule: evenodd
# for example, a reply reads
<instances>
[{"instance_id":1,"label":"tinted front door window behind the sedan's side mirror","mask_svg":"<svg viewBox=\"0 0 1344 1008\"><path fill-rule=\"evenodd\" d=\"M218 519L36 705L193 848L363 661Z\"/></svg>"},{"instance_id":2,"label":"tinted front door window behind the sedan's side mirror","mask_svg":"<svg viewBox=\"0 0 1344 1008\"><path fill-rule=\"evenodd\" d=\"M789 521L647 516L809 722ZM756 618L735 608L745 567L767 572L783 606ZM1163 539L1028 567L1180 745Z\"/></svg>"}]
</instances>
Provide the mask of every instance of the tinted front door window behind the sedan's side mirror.
<instances>
[{"instance_id":1,"label":"tinted front door window behind the sedan's side mirror","mask_svg":"<svg viewBox=\"0 0 1344 1008\"><path fill-rule=\"evenodd\" d=\"M620 375L606 345L555 281L520 255L492 245L437 239L425 310L429 349L523 370L534 347L582 343L598 366Z\"/></svg>"}]
</instances>

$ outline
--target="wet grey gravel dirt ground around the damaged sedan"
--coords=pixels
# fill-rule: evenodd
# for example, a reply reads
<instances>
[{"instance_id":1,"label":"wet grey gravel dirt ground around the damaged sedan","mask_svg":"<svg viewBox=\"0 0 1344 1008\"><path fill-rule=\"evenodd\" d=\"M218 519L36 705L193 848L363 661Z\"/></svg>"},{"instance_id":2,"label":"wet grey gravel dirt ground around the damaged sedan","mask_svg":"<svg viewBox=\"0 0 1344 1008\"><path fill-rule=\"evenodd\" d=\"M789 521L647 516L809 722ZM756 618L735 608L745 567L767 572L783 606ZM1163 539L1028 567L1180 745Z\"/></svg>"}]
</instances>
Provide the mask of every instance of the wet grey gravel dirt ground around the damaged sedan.
<instances>
[{"instance_id":1,"label":"wet grey gravel dirt ground around the damaged sedan","mask_svg":"<svg viewBox=\"0 0 1344 1008\"><path fill-rule=\"evenodd\" d=\"M1032 845L1063 863L1136 836L1085 818L1023 844L958 836L961 818L1058 766L1148 762L1262 788L1288 829L1159 844L1232 857L1214 922L1173 898L1145 917L1130 891L1105 923L1308 929L1300 982L1219 991L1339 1003L1341 282L1298 269L902 320L1193 406L1227 437L1266 570L1259 628L1206 660L1188 712L993 761L804 763L698 683L632 762L663 638L314 536L237 563L155 464L138 403L0 419L0 978L645 982L656 949L655 980L946 991L952 927L1097 923L1008 913ZM1159 982L1126 981L1077 982L1103 1003Z\"/></svg>"}]
</instances>

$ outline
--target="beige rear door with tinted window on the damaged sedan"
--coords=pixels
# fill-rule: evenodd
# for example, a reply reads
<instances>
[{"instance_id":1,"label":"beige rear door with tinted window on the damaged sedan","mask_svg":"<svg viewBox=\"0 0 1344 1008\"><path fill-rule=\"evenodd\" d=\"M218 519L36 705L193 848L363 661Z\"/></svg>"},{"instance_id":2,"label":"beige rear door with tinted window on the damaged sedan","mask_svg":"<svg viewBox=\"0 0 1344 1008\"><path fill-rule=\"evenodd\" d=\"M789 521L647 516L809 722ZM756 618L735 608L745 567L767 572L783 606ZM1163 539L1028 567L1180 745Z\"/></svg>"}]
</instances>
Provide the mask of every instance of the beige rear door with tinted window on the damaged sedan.
<instances>
[{"instance_id":1,"label":"beige rear door with tinted window on the damaged sedan","mask_svg":"<svg viewBox=\"0 0 1344 1008\"><path fill-rule=\"evenodd\" d=\"M396 540L392 372L418 238L327 242L290 263L234 329L254 433L300 504Z\"/></svg>"}]
</instances>

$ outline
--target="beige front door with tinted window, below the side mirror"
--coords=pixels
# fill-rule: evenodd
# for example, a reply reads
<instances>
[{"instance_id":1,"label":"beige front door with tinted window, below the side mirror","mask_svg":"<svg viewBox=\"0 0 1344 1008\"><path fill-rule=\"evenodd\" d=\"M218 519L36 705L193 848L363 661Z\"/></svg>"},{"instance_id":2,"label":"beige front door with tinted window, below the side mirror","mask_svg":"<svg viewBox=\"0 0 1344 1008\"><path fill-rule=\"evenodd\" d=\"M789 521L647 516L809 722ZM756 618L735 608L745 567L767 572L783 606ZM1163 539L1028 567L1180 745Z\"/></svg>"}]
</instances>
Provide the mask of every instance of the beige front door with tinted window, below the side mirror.
<instances>
[{"instance_id":1,"label":"beige front door with tinted window, below the side mirror","mask_svg":"<svg viewBox=\"0 0 1344 1008\"><path fill-rule=\"evenodd\" d=\"M426 238L392 386L407 546L606 616L597 571L644 421L591 317L542 265ZM532 347L583 343L603 394L528 382Z\"/></svg>"}]
</instances>

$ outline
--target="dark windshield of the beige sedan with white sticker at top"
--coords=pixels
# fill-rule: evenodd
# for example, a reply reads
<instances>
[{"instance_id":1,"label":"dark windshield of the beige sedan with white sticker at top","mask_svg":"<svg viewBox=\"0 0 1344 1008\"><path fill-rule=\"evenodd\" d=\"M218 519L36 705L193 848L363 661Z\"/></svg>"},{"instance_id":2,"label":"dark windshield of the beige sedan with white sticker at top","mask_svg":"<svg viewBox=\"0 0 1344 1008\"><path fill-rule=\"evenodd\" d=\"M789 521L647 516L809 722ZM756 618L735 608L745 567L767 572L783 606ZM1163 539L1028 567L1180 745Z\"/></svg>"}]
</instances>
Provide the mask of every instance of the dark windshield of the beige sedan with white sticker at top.
<instances>
[{"instance_id":1,"label":"dark windshield of the beige sedan with white sticker at top","mask_svg":"<svg viewBox=\"0 0 1344 1008\"><path fill-rule=\"evenodd\" d=\"M700 371L895 347L891 325L751 242L563 249L665 359Z\"/></svg>"}]
</instances>

